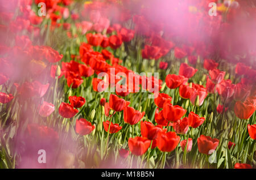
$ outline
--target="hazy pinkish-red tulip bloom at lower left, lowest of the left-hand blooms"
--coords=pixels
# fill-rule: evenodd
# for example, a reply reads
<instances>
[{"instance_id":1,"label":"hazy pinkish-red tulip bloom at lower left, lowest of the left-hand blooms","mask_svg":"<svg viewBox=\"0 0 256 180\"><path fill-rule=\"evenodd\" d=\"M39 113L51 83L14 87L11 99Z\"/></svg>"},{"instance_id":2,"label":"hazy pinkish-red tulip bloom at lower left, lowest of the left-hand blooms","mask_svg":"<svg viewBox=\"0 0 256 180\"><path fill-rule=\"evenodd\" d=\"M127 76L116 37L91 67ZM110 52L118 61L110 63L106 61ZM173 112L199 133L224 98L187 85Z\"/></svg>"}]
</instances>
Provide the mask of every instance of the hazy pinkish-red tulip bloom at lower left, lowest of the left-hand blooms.
<instances>
[{"instance_id":1,"label":"hazy pinkish-red tulip bloom at lower left, lowest of the left-hand blooms","mask_svg":"<svg viewBox=\"0 0 256 180\"><path fill-rule=\"evenodd\" d=\"M88 122L86 119L76 119L76 132L80 135L90 134L95 128L95 125Z\"/></svg>"}]
</instances>

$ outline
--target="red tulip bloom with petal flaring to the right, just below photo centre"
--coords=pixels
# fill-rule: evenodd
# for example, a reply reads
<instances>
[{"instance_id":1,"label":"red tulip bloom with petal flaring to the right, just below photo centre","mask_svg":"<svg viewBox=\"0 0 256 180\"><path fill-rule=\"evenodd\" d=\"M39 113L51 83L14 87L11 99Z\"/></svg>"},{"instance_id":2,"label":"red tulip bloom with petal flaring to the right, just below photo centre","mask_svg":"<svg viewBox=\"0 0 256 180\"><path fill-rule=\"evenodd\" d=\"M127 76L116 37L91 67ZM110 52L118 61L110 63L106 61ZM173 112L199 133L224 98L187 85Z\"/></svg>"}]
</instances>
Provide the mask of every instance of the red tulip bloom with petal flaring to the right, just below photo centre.
<instances>
[{"instance_id":1,"label":"red tulip bloom with petal flaring to the right, just below photo centre","mask_svg":"<svg viewBox=\"0 0 256 180\"><path fill-rule=\"evenodd\" d=\"M143 118L145 112L139 112L135 110L133 107L125 106L123 109L123 119L125 123L129 123L130 125L135 125Z\"/></svg>"}]
</instances>

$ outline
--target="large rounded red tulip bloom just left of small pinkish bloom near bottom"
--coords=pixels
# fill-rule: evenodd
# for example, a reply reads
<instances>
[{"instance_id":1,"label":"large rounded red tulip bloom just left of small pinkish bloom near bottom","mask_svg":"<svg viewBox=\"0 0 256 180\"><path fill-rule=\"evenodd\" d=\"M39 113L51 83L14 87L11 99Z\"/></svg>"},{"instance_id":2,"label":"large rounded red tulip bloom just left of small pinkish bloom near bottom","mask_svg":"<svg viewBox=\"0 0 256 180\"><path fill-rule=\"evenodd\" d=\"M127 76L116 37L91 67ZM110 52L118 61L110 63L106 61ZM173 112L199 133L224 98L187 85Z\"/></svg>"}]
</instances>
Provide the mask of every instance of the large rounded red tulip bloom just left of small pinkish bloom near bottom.
<instances>
[{"instance_id":1,"label":"large rounded red tulip bloom just left of small pinkish bloom near bottom","mask_svg":"<svg viewBox=\"0 0 256 180\"><path fill-rule=\"evenodd\" d=\"M180 142L180 136L175 132L159 132L157 138L157 147L160 151L171 152L177 147Z\"/></svg>"}]
</instances>

